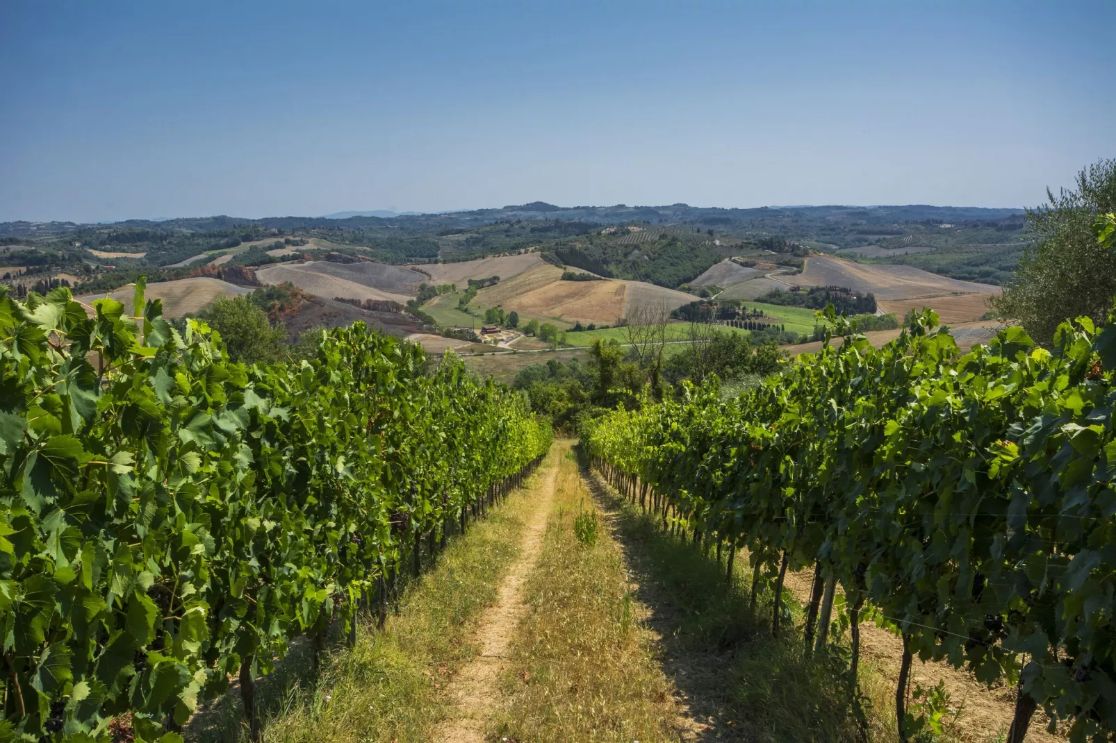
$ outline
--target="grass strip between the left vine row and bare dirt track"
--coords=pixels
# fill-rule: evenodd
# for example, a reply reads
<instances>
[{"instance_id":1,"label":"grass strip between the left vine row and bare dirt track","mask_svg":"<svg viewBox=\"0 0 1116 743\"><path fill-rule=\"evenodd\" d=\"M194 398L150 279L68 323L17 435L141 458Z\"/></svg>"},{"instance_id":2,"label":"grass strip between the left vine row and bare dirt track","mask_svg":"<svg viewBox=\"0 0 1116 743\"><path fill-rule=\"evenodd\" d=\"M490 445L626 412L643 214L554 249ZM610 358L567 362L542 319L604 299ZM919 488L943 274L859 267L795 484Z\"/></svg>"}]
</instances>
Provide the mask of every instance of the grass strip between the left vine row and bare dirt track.
<instances>
[{"instance_id":1,"label":"grass strip between the left vine row and bare dirt track","mask_svg":"<svg viewBox=\"0 0 1116 743\"><path fill-rule=\"evenodd\" d=\"M356 647L337 650L316 686L291 689L283 710L268 722L266 740L431 740L453 708L446 685L479 652L477 628L519 554L540 477L532 480L451 541L382 633L365 625Z\"/></svg>"}]
</instances>

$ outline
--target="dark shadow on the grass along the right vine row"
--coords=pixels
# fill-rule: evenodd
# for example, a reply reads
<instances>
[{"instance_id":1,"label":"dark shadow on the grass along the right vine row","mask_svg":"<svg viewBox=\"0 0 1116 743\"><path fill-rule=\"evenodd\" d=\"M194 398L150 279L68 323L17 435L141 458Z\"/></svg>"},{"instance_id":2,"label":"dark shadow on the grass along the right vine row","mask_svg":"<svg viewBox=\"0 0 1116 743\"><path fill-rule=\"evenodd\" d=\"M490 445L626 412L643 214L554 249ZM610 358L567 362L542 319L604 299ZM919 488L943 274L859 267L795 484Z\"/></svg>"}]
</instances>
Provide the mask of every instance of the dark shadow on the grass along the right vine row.
<instances>
[{"instance_id":1,"label":"dark shadow on the grass along the right vine row","mask_svg":"<svg viewBox=\"0 0 1116 743\"><path fill-rule=\"evenodd\" d=\"M839 658L805 657L801 609L790 607L779 638L771 637L772 591L749 612L747 553L725 579L715 551L661 530L657 520L620 498L581 463L586 485L627 558L635 597L650 609L646 624L661 638L660 663L680 704L700 723L681 730L695 741L863 741ZM728 556L723 556L728 559ZM744 573L748 573L747 576Z\"/></svg>"}]
</instances>

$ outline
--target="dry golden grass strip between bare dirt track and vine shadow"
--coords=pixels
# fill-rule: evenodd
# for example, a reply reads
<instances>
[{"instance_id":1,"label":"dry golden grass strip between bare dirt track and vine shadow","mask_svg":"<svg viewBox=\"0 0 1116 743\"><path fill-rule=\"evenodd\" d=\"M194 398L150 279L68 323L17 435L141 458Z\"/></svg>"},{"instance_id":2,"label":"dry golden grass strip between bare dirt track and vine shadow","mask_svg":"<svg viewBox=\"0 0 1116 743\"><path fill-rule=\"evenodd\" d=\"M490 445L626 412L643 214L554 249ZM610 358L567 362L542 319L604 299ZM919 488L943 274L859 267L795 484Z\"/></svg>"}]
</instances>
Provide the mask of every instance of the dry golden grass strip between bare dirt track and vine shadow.
<instances>
[{"instance_id":1,"label":"dry golden grass strip between bare dirt track and vine shadow","mask_svg":"<svg viewBox=\"0 0 1116 743\"><path fill-rule=\"evenodd\" d=\"M623 552L602 525L574 533L595 511L568 444L555 447L555 505L541 559L525 585L530 614L502 675L506 708L494 739L679 740L670 683L655 660L646 607L632 595Z\"/></svg>"}]
</instances>

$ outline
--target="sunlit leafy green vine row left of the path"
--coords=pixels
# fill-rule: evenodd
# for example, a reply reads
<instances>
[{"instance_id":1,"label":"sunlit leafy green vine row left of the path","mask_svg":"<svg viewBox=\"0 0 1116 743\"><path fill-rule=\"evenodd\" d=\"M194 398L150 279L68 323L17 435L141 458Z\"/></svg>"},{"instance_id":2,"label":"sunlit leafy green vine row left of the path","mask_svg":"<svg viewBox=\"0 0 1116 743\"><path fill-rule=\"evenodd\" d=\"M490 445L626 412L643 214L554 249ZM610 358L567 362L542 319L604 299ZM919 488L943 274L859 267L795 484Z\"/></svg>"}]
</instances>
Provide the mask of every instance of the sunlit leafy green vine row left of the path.
<instances>
[{"instance_id":1,"label":"sunlit leafy green vine row left of the path","mask_svg":"<svg viewBox=\"0 0 1116 743\"><path fill-rule=\"evenodd\" d=\"M246 368L158 300L0 296L0 740L180 740L291 641L355 636L551 431L521 397L363 324ZM115 734L115 733L114 733Z\"/></svg>"}]
</instances>

